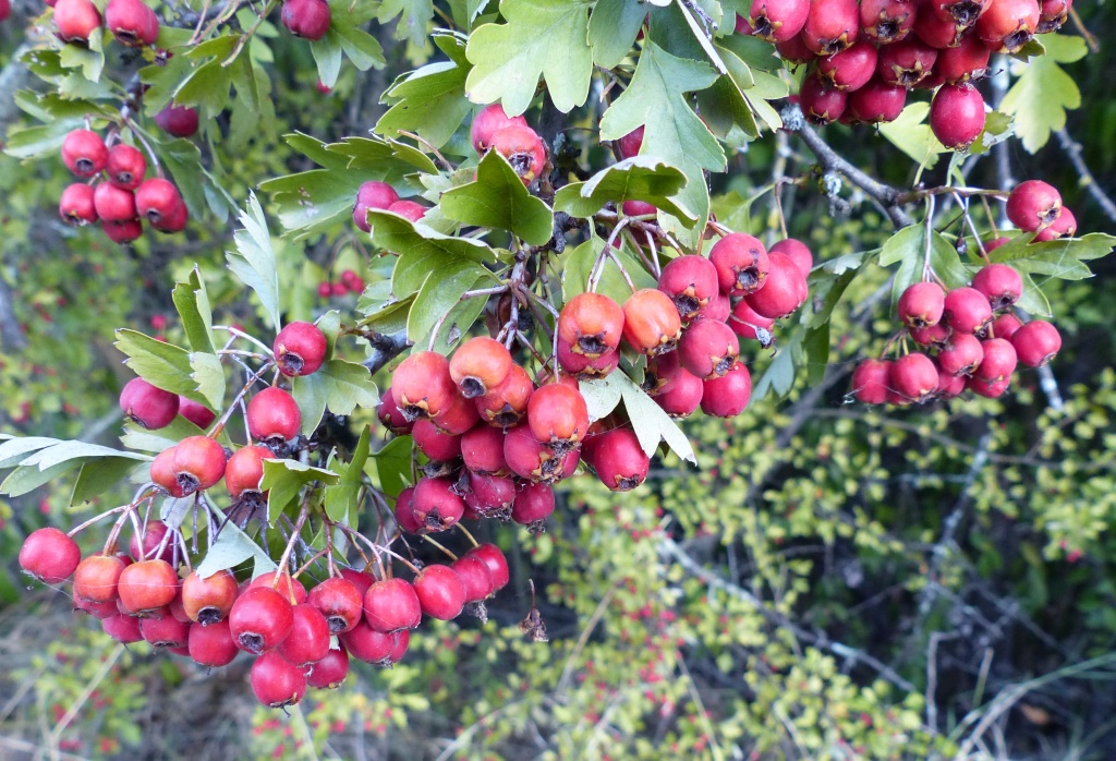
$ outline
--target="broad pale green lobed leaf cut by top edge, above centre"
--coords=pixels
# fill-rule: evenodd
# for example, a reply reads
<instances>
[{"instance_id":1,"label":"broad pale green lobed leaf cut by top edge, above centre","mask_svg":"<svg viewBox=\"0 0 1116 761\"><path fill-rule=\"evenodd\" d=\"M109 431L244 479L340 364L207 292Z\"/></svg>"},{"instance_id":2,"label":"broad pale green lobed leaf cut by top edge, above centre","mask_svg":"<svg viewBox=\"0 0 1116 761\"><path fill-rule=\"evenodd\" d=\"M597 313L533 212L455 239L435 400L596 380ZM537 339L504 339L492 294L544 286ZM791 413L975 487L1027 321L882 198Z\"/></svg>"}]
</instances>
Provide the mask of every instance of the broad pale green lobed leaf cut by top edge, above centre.
<instances>
[{"instance_id":1,"label":"broad pale green lobed leaf cut by top edge, above centre","mask_svg":"<svg viewBox=\"0 0 1116 761\"><path fill-rule=\"evenodd\" d=\"M469 99L502 100L509 115L522 114L541 75L558 110L583 105L593 78L590 6L586 0L503 0L500 13L508 22L482 25L469 37Z\"/></svg>"}]
</instances>

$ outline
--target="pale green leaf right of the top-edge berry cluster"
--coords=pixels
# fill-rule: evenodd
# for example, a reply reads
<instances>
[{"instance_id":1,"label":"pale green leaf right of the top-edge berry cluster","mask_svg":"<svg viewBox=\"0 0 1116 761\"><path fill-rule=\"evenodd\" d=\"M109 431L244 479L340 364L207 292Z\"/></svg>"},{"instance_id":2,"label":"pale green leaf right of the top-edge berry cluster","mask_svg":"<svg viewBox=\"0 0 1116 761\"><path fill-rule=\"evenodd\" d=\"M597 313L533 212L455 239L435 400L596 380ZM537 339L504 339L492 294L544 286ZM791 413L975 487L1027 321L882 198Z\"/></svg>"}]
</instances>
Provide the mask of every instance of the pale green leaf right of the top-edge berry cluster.
<instances>
[{"instance_id":1,"label":"pale green leaf right of the top-edge berry cluster","mask_svg":"<svg viewBox=\"0 0 1116 761\"><path fill-rule=\"evenodd\" d=\"M1016 65L1022 71L1000 103L1000 110L1013 117L1016 134L1030 153L1046 145L1051 132L1066 126L1067 110L1080 108L1077 83L1058 64L1080 60L1088 51L1080 37L1040 35L1039 40L1046 55Z\"/></svg>"}]
</instances>

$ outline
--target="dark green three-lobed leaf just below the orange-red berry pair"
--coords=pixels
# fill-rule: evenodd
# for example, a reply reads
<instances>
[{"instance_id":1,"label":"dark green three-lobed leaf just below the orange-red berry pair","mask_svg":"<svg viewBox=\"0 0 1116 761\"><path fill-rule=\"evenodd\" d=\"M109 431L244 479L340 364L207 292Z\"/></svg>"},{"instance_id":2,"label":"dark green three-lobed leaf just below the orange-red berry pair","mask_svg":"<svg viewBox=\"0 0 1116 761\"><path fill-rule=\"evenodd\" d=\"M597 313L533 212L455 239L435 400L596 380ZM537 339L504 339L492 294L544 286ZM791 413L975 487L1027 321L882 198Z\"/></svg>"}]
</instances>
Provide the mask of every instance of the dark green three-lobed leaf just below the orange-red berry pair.
<instances>
[{"instance_id":1,"label":"dark green three-lobed leaf just below the orange-red berry pair","mask_svg":"<svg viewBox=\"0 0 1116 761\"><path fill-rule=\"evenodd\" d=\"M508 160L489 151L477 167L474 182L442 194L442 213L462 224L498 228L542 245L554 234L554 214L531 195Z\"/></svg>"}]
</instances>

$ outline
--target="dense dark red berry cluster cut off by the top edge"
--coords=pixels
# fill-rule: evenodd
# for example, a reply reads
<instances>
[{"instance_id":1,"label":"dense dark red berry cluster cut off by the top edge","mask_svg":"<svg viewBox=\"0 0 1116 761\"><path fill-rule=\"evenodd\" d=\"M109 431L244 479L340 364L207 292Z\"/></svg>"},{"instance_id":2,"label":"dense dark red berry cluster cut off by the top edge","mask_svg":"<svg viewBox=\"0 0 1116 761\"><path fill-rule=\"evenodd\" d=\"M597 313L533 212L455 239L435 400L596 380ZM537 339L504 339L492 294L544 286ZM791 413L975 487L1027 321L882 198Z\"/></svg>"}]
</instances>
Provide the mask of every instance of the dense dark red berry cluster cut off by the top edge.
<instances>
[{"instance_id":1,"label":"dense dark red berry cluster cut off by the top edge","mask_svg":"<svg viewBox=\"0 0 1116 761\"><path fill-rule=\"evenodd\" d=\"M935 90L930 126L964 150L984 129L975 83L992 52L1057 31L1072 0L756 0L737 31L809 64L799 102L816 124L898 118L911 89Z\"/></svg>"}]
</instances>

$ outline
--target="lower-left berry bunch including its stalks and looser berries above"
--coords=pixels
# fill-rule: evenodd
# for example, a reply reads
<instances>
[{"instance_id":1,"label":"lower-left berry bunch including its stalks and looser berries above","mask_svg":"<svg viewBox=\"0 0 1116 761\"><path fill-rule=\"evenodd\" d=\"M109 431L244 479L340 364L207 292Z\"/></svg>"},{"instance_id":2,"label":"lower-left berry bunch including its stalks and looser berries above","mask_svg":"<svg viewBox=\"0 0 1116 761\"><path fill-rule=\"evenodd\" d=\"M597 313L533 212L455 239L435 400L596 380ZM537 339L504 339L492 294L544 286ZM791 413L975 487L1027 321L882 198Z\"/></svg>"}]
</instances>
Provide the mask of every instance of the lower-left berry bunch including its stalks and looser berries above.
<instances>
[{"instance_id":1,"label":"lower-left berry bunch including its stalks and looser berries above","mask_svg":"<svg viewBox=\"0 0 1116 761\"><path fill-rule=\"evenodd\" d=\"M309 322L290 322L279 331L272 359L260 373L275 366L286 377L310 375L321 368L326 355L327 339L320 329ZM195 526L199 513L203 514L212 542L222 524L213 510L212 494L206 492L223 480L232 499L227 520L247 509L248 514L237 521L247 524L267 503L268 494L261 491L263 462L287 456L299 443L298 406L277 386L253 394L247 406L247 425L257 443L238 449L231 456L217 441L227 415L214 425L212 411L140 378L125 386L121 406L131 420L147 428L164 427L179 414L200 427L213 427L209 435L189 436L157 455L151 465L151 481L131 504L86 521L69 534L55 528L32 532L20 549L19 563L46 584L58 585L73 577L75 610L99 619L105 633L122 643L146 640L206 667L228 665L238 653L249 653L256 657L250 676L256 696L264 705L282 707L298 703L308 686L338 686L348 673L350 657L382 666L398 662L424 615L449 620L466 611L487 618L484 600L508 584L508 562L494 545L474 541L468 552L451 556L452 565L420 567L387 546L328 522L327 533L340 530L363 541L374 559L357 545L365 569L338 568L327 540L326 551L291 574L287 561L308 519L306 508L294 527L281 570L251 580L238 580L230 570L202 577L191 568L191 550L181 529L150 518L153 500L162 494L180 499L193 495ZM103 551L83 558L73 536L117 513ZM135 534L125 552L117 541L129 521ZM196 530L193 541L196 555ZM411 568L414 580L394 576L391 562L385 563L381 553ZM307 591L302 578L309 577L315 563L325 566L326 578Z\"/></svg>"}]
</instances>

